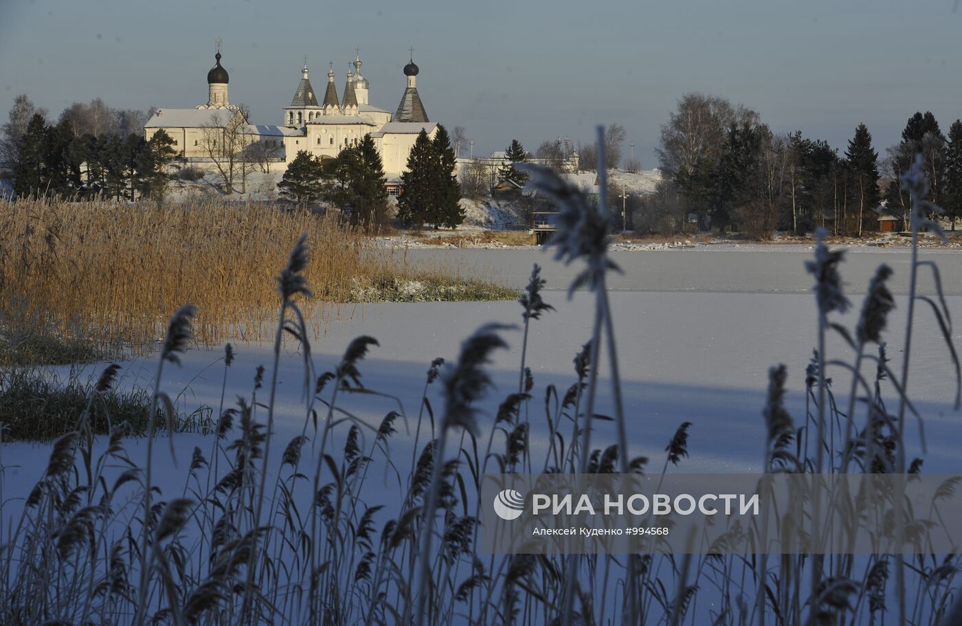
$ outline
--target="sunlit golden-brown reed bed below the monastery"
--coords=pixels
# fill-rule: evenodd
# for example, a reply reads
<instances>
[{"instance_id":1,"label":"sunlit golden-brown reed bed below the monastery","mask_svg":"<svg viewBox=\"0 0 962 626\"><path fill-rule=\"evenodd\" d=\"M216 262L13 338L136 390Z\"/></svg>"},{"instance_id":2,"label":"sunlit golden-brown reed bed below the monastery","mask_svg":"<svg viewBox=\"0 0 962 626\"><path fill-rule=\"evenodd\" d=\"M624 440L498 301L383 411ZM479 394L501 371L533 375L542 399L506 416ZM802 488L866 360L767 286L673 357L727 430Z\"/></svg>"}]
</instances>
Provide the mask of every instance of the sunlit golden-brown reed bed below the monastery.
<instances>
[{"instance_id":1,"label":"sunlit golden-brown reed bed below the monastery","mask_svg":"<svg viewBox=\"0 0 962 626\"><path fill-rule=\"evenodd\" d=\"M303 233L316 295L305 314L315 319L352 302L517 297L456 269L415 266L403 249L378 247L332 215L215 200L43 198L0 201L0 309L142 349L170 311L192 302L200 341L266 338L276 321L273 268Z\"/></svg>"}]
</instances>

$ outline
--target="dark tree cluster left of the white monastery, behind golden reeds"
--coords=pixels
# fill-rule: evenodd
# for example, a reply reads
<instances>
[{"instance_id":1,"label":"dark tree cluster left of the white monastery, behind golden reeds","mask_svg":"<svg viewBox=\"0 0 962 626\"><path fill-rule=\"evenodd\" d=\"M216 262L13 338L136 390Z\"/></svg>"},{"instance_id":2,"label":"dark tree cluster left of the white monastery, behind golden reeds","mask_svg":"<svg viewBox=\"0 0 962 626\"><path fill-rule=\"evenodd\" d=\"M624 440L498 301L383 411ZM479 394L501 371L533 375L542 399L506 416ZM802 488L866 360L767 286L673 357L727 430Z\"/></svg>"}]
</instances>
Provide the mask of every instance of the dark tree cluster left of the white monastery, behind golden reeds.
<instances>
[{"instance_id":1,"label":"dark tree cluster left of the white monastery, behind golden reeds","mask_svg":"<svg viewBox=\"0 0 962 626\"><path fill-rule=\"evenodd\" d=\"M48 123L46 111L19 95L0 138L3 177L18 196L161 198L178 152L163 132L144 140L146 117L96 99Z\"/></svg>"}]
</instances>

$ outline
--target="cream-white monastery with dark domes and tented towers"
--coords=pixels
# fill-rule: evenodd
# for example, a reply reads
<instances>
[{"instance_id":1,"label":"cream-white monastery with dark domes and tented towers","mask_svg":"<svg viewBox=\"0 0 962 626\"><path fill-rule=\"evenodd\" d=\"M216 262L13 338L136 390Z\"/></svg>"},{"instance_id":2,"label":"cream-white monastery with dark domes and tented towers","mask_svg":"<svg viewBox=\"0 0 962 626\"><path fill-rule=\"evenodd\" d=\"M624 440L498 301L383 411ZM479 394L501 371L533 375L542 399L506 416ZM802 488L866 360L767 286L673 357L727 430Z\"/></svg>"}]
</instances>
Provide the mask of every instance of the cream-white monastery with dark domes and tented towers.
<instances>
[{"instance_id":1,"label":"cream-white monastery with dark domes and tented towers","mask_svg":"<svg viewBox=\"0 0 962 626\"><path fill-rule=\"evenodd\" d=\"M149 140L163 129L188 162L202 166L213 163L212 152L216 155L229 144L229 129L240 131L244 145L262 142L281 163L290 163L301 150L320 159L334 158L343 148L357 145L369 135L381 154L389 187L395 188L418 133L423 130L431 138L437 134L438 125L428 120L418 94L419 70L413 56L404 66L407 87L394 113L368 102L370 84L361 75L360 51L351 63L353 69L347 72L340 100L333 64L327 72L323 98L318 100L305 63L291 104L283 107L282 123L277 126L250 124L230 103L230 79L220 59L218 49L216 64L207 73L207 102L193 109L158 110L144 124L144 138ZM218 136L222 138L219 143Z\"/></svg>"}]
</instances>

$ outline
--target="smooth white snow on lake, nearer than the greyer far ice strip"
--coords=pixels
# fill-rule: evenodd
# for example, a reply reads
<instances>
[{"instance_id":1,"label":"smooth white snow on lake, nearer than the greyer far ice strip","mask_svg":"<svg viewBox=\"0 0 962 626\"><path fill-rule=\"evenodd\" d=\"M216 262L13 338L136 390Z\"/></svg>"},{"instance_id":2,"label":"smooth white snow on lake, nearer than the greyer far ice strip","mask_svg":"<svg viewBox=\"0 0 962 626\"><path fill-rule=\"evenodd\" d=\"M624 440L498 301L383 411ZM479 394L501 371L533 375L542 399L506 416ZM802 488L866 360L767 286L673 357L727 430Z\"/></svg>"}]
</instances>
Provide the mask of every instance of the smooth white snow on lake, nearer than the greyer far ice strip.
<instances>
[{"instance_id":1,"label":"smooth white snow on lake, nearer than the greyer far ice strip","mask_svg":"<svg viewBox=\"0 0 962 626\"><path fill-rule=\"evenodd\" d=\"M548 384L567 388L573 382L571 360L589 337L592 302L578 293L570 302L561 293L547 294L557 313L548 313L532 327L528 363L535 377L532 411L538 412ZM891 320L889 340L900 344L903 300ZM626 412L631 416L633 454L652 459L682 421L692 421L691 459L684 468L692 471L752 471L761 460L764 429L760 411L764 403L768 368L786 363L789 368L789 410L797 420L804 416L804 371L815 342L815 307L803 294L615 292L612 294L620 344ZM962 315L962 297L949 298L949 310ZM849 321L854 321L850 313ZM513 302L418 303L367 305L352 317L331 322L312 352L316 372L332 369L351 338L370 335L381 345L362 363L368 388L397 396L409 416L417 412L424 374L435 357L453 359L461 340L475 327L489 321L517 322L520 308ZM957 469L954 445L962 418L950 411L954 393L949 363L934 321L920 313L918 342L913 354L910 393L924 410L928 435L926 469ZM494 414L497 403L517 388L519 334L507 333L511 350L497 356L494 364L496 391L484 410ZM295 346L290 345L293 350ZM831 344L832 356L844 358L848 350ZM258 365L270 363L264 343L238 344L237 360L228 371L227 399L249 394ZM165 369L164 388L180 396L185 407L206 404L217 407L220 396L221 351L191 350L182 368ZM302 402L301 355L291 351L282 360L277 420L278 445L299 435L305 412ZM124 363L128 376L149 377L152 359ZM837 388L847 376L834 372ZM607 394L600 413L610 413ZM440 402L433 396L432 401ZM385 413L396 408L390 400L367 396L347 400L369 423L376 426ZM533 421L540 432L540 413ZM539 432L536 430L536 433ZM909 433L915 429L910 428ZM611 433L598 436L600 445ZM195 436L176 436L181 456L190 458ZM543 441L534 438L535 442ZM131 445L138 446L139 442ZM4 464L22 465L13 488L32 486L38 459L45 463L46 446L5 444ZM921 455L921 448L913 452ZM8 482L8 488L11 483ZM11 495L8 491L8 497ZM22 495L22 494L21 494Z\"/></svg>"}]
</instances>

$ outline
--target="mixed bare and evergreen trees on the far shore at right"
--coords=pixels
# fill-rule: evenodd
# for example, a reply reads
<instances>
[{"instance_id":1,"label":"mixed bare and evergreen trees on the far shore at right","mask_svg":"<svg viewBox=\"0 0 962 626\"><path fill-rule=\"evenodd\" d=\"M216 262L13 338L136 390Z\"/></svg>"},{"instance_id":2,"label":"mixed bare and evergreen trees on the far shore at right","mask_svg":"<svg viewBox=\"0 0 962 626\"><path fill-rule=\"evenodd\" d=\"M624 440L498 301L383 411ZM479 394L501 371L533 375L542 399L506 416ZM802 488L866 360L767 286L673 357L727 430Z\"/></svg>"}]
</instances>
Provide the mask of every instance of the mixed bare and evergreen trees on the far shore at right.
<instances>
[{"instance_id":1,"label":"mixed bare and evergreen trees on the far shore at right","mask_svg":"<svg viewBox=\"0 0 962 626\"><path fill-rule=\"evenodd\" d=\"M683 96L662 126L658 148L664 181L637 221L653 230L681 230L691 217L702 228L805 233L826 227L840 235L876 230L876 209L906 218L899 176L922 153L932 189L954 230L962 211L962 122L942 133L932 113L915 113L899 144L879 158L859 124L842 154L801 132L779 135L758 113L717 96ZM899 224L904 228L904 224Z\"/></svg>"}]
</instances>

